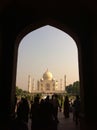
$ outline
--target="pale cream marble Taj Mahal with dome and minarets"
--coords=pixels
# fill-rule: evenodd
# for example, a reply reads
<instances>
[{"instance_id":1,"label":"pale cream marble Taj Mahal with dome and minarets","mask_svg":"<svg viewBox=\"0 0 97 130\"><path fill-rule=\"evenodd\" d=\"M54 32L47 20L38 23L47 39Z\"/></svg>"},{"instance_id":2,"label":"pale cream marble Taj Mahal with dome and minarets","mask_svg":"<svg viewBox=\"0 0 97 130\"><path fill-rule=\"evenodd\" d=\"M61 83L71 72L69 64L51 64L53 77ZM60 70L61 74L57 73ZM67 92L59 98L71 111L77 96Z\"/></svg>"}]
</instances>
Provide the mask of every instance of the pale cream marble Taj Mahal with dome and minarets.
<instances>
[{"instance_id":1,"label":"pale cream marble Taj Mahal with dome and minarets","mask_svg":"<svg viewBox=\"0 0 97 130\"><path fill-rule=\"evenodd\" d=\"M64 86L62 86L64 85ZM64 83L62 84L62 79L60 82L53 78L53 75L48 69L43 73L40 80L37 81L37 85L34 85L34 80L28 76L28 92L29 93L64 93L66 86L66 78L64 77ZM64 87L64 88L63 88Z\"/></svg>"}]
</instances>

